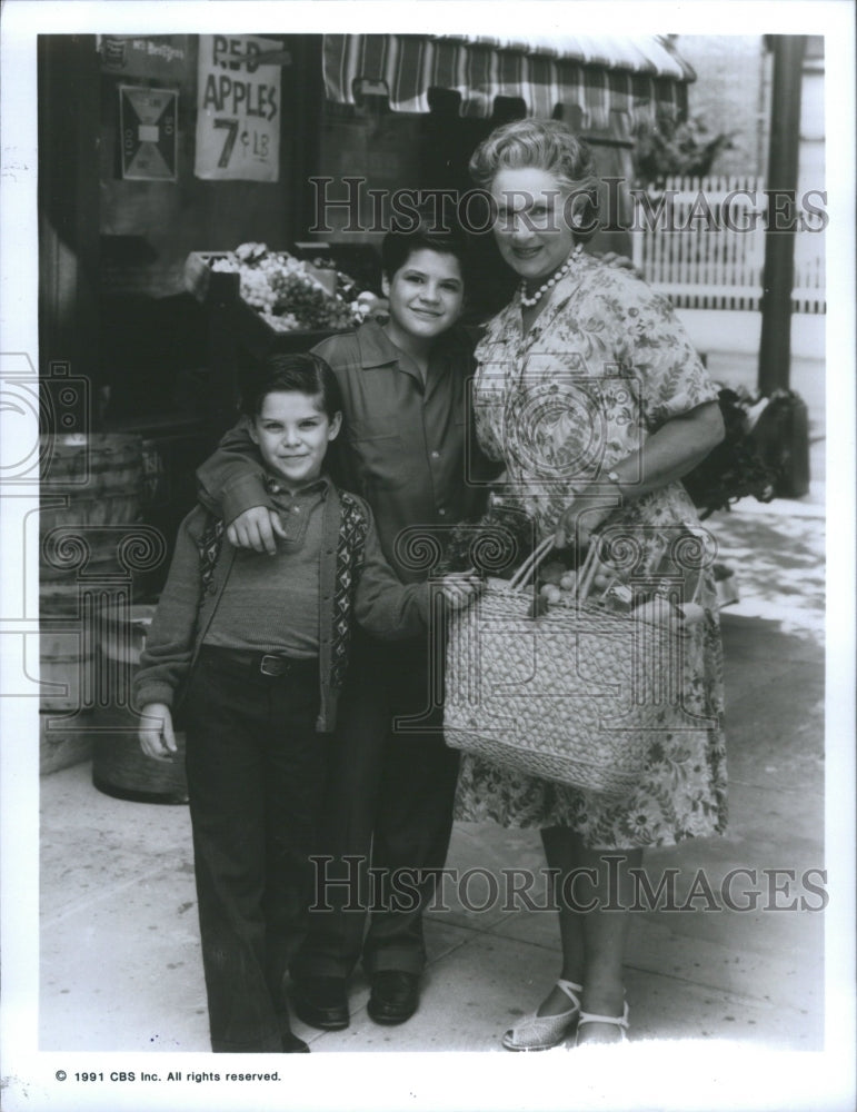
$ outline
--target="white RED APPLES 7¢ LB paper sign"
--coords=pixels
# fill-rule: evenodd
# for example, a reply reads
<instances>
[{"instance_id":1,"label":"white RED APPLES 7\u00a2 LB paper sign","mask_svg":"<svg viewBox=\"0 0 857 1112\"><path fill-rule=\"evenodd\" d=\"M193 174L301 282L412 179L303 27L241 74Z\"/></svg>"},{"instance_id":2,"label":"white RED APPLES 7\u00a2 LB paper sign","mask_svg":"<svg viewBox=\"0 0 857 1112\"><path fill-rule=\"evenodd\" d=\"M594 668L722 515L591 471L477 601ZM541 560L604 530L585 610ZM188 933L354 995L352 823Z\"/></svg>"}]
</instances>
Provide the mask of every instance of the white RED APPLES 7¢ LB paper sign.
<instances>
[{"instance_id":1,"label":"white RED APPLES 7\u00a2 LB paper sign","mask_svg":"<svg viewBox=\"0 0 857 1112\"><path fill-rule=\"evenodd\" d=\"M280 67L257 59L280 49L252 34L200 34L198 178L279 180Z\"/></svg>"}]
</instances>

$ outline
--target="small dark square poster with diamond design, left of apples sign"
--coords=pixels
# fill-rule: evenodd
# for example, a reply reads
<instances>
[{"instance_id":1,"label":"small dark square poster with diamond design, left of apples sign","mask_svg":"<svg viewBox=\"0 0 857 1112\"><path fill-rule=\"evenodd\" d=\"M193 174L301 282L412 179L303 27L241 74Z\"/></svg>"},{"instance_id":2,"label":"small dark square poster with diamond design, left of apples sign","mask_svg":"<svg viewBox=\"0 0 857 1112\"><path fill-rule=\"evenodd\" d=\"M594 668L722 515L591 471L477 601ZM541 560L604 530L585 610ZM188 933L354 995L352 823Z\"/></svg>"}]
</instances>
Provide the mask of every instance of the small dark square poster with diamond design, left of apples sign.
<instances>
[{"instance_id":1,"label":"small dark square poster with diamond design, left of apples sign","mask_svg":"<svg viewBox=\"0 0 857 1112\"><path fill-rule=\"evenodd\" d=\"M178 99L173 89L119 87L123 178L176 180Z\"/></svg>"}]
</instances>

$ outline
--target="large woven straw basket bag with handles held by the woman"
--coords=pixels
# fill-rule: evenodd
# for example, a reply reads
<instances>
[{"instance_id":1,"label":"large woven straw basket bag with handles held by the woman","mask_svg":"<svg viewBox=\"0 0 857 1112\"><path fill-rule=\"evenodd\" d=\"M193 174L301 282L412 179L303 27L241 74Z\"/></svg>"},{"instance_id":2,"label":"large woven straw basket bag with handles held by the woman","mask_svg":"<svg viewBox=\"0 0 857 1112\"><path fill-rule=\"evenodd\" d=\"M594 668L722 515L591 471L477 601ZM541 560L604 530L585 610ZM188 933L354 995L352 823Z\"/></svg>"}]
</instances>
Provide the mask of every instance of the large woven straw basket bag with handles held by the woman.
<instances>
[{"instance_id":1,"label":"large woven straw basket bag with handles held by the woman","mask_svg":"<svg viewBox=\"0 0 857 1112\"><path fill-rule=\"evenodd\" d=\"M489 579L452 622L446 741L507 768L621 798L639 783L652 731L679 723L680 623L667 599L656 607L658 620L587 603L586 565L568 605L530 617L532 594L522 583L549 547L512 580Z\"/></svg>"}]
</instances>

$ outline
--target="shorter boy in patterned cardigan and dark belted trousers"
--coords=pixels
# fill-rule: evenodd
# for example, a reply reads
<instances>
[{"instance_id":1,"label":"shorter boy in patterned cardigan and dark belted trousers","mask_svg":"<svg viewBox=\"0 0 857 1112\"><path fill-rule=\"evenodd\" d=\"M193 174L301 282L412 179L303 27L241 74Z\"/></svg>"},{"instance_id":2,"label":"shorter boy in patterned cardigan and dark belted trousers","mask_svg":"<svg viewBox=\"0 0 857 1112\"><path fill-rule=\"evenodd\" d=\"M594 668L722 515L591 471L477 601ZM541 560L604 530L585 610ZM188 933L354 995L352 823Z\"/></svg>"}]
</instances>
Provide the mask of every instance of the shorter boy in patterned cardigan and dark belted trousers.
<instances>
[{"instance_id":1,"label":"shorter boy in patterned cardigan and dark belted trousers","mask_svg":"<svg viewBox=\"0 0 857 1112\"><path fill-rule=\"evenodd\" d=\"M425 632L428 588L402 586L369 507L323 473L342 420L323 359L271 357L245 407L279 544L273 556L239 550L222 519L188 515L134 696L149 756L175 754L179 699L187 723L212 1050L295 1053L308 1046L290 1031L282 980L305 927L351 628ZM444 594L457 605L468 592Z\"/></svg>"}]
</instances>

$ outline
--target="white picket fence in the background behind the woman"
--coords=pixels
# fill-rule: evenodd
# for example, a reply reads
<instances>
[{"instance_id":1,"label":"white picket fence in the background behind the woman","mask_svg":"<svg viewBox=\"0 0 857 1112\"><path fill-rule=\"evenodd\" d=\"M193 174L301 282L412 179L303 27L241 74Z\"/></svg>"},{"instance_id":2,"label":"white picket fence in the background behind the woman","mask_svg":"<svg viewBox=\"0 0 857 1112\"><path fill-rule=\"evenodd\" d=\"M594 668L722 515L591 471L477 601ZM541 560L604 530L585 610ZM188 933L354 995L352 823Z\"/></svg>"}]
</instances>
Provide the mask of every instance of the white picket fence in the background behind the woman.
<instances>
[{"instance_id":1,"label":"white picket fence in the background behind the woman","mask_svg":"<svg viewBox=\"0 0 857 1112\"><path fill-rule=\"evenodd\" d=\"M758 309L764 188L754 176L668 178L664 192L649 195L647 203L637 197L631 231L637 270L680 308ZM795 236L793 311L826 310L824 241L823 231Z\"/></svg>"}]
</instances>

